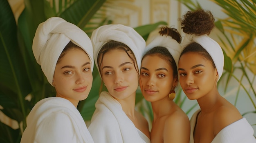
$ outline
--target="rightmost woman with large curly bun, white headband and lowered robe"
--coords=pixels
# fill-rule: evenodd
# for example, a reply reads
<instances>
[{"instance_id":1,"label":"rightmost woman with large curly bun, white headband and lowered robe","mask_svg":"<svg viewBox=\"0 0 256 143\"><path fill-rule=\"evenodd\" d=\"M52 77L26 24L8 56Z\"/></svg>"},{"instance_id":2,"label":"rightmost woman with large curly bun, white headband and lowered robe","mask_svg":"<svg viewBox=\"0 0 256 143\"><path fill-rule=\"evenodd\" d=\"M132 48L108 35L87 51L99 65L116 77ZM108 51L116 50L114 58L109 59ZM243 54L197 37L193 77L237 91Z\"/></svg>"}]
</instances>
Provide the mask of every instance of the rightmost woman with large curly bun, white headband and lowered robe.
<instances>
[{"instance_id":1,"label":"rightmost woman with large curly bun, white headband and lowered robe","mask_svg":"<svg viewBox=\"0 0 256 143\"><path fill-rule=\"evenodd\" d=\"M186 96L198 101L191 118L191 143L256 143L254 131L239 111L217 89L224 56L208 37L214 27L210 11L188 11L181 19L186 36L180 55L180 85Z\"/></svg>"}]
</instances>

